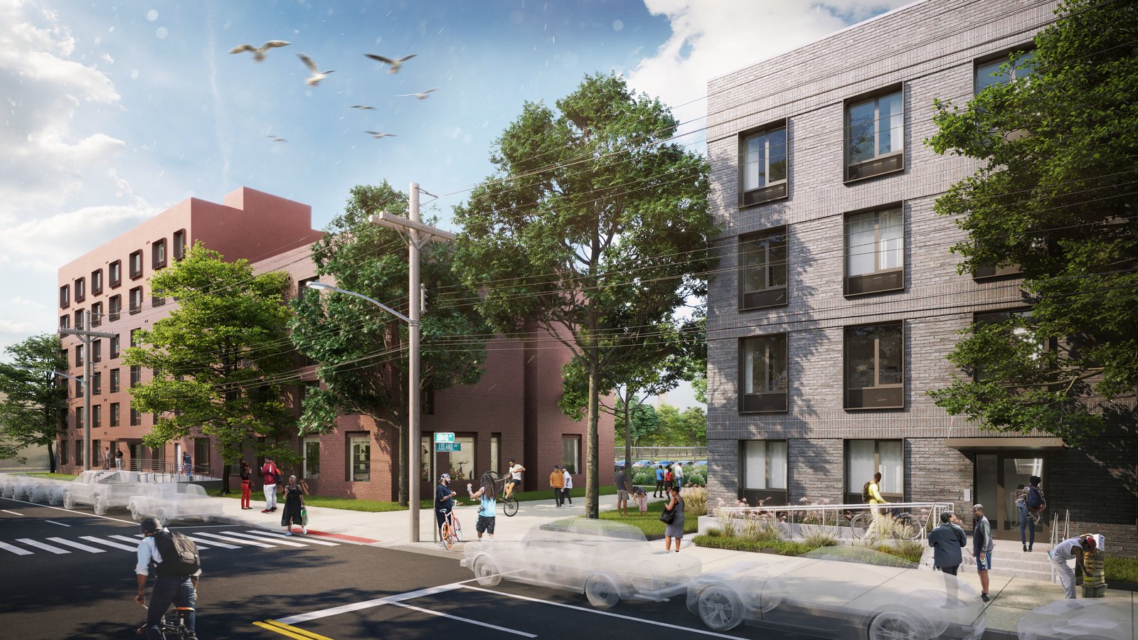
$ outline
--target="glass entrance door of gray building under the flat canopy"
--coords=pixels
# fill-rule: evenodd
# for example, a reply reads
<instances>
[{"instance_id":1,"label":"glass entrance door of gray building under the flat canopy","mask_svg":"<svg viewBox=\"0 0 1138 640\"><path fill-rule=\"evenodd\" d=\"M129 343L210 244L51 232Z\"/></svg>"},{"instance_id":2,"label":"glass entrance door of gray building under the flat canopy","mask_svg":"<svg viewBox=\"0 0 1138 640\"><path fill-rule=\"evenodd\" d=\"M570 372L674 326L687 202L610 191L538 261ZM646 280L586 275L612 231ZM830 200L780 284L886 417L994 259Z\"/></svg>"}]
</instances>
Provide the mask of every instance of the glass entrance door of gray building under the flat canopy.
<instances>
[{"instance_id":1,"label":"glass entrance door of gray building under the flat canopy","mask_svg":"<svg viewBox=\"0 0 1138 640\"><path fill-rule=\"evenodd\" d=\"M1031 476L1047 477L1041 456L1030 452L976 453L976 502L984 506L984 515L997 540L1020 540L1020 508L1015 503L1015 491L1021 484L1026 486ZM1046 495L1046 483L1040 486ZM1037 540L1048 539L1047 524L1045 511L1039 524L1034 525Z\"/></svg>"}]
</instances>

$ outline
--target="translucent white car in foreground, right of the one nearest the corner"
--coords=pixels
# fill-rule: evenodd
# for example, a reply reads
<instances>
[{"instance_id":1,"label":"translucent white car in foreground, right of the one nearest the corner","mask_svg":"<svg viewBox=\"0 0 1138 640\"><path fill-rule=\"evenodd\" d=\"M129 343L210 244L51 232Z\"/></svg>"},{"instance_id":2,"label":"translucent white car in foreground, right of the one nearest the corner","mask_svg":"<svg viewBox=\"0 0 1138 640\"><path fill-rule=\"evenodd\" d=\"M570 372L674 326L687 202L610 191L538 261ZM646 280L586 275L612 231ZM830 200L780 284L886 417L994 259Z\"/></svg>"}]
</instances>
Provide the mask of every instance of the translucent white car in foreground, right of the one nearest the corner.
<instances>
[{"instance_id":1,"label":"translucent white car in foreground, right of the one nearest the corner","mask_svg":"<svg viewBox=\"0 0 1138 640\"><path fill-rule=\"evenodd\" d=\"M716 631L747 623L858 640L973 640L984 632L983 602L966 583L865 548L741 560L693 580L687 608Z\"/></svg>"}]
</instances>

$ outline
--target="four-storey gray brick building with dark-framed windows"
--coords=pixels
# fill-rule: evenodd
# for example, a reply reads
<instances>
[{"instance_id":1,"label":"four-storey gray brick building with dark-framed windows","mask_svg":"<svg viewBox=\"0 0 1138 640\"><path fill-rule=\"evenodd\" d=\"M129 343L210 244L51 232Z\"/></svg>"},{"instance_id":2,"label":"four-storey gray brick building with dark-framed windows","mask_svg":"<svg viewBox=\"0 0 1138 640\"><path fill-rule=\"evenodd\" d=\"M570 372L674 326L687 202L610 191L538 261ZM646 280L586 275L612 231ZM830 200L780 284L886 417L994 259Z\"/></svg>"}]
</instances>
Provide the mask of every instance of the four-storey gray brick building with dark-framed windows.
<instances>
[{"instance_id":1,"label":"four-storey gray brick building with dark-framed windows","mask_svg":"<svg viewBox=\"0 0 1138 640\"><path fill-rule=\"evenodd\" d=\"M712 504L859 502L880 469L891 501L954 501L968 519L980 501L1019 539L1012 491L1040 475L1048 520L1069 511L1073 533L1138 555L1133 425L1072 449L981 432L926 395L949 383L962 329L1023 309L1014 272L956 272L964 236L933 203L976 165L923 145L933 100L998 80L1056 6L916 2L709 82Z\"/></svg>"}]
</instances>

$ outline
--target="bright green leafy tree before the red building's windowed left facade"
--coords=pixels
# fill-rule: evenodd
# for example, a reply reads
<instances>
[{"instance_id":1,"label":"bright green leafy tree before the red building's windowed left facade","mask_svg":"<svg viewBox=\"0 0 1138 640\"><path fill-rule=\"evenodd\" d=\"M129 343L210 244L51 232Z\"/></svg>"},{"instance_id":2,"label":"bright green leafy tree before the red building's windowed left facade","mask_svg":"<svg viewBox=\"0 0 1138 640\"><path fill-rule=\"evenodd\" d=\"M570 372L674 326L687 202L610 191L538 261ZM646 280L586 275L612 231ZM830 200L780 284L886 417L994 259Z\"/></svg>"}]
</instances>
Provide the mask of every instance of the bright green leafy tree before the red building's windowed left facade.
<instances>
[{"instance_id":1,"label":"bright green leafy tree before the red building's windowed left facade","mask_svg":"<svg viewBox=\"0 0 1138 640\"><path fill-rule=\"evenodd\" d=\"M213 437L224 465L223 493L246 445L284 463L296 460L291 449L279 446L294 421L281 396L281 378L294 366L288 284L284 272L256 276L248 261L226 262L198 243L150 278L154 295L173 297L178 307L139 330L137 346L123 353L124 364L154 371L149 383L131 389L131 407L157 416L142 442L164 446L190 435Z\"/></svg>"}]
</instances>

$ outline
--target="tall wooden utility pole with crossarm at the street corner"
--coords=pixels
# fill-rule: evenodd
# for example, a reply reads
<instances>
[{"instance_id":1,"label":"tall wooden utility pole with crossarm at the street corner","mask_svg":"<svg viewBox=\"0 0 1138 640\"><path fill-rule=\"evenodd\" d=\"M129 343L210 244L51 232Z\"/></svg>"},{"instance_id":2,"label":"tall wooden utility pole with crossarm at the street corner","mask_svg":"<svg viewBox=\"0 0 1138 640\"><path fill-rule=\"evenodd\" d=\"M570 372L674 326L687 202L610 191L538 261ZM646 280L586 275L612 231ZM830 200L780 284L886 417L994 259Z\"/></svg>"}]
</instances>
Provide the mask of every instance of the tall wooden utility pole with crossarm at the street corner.
<instances>
[{"instance_id":1,"label":"tall wooden utility pole with crossarm at the street corner","mask_svg":"<svg viewBox=\"0 0 1138 640\"><path fill-rule=\"evenodd\" d=\"M411 515L411 542L419 542L419 251L431 240L448 243L454 233L423 224L419 219L419 183L412 182L410 190L409 218L387 212L372 214L371 221L382 227L405 231L407 235L407 508ZM428 196L434 194L428 194ZM430 478L434 481L434 478Z\"/></svg>"}]
</instances>

